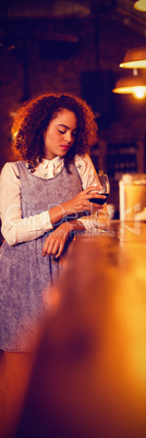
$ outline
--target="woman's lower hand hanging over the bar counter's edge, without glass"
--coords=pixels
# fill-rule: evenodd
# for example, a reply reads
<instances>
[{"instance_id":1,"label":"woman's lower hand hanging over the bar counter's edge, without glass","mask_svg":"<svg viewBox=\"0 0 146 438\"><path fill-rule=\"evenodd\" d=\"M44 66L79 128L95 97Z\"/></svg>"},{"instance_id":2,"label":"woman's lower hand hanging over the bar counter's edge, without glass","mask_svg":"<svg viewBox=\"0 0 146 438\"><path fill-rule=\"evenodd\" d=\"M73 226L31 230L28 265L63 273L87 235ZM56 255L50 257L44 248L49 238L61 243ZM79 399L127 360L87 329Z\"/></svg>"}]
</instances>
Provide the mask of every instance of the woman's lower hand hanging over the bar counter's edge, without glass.
<instances>
[{"instance_id":1,"label":"woman's lower hand hanging over the bar counter's edge, without glass","mask_svg":"<svg viewBox=\"0 0 146 438\"><path fill-rule=\"evenodd\" d=\"M54 231L52 231L46 239L42 248L42 256L45 257L46 254L48 254L54 256L56 258L60 257L71 230L72 228L70 227L69 222L63 222Z\"/></svg>"}]
</instances>

